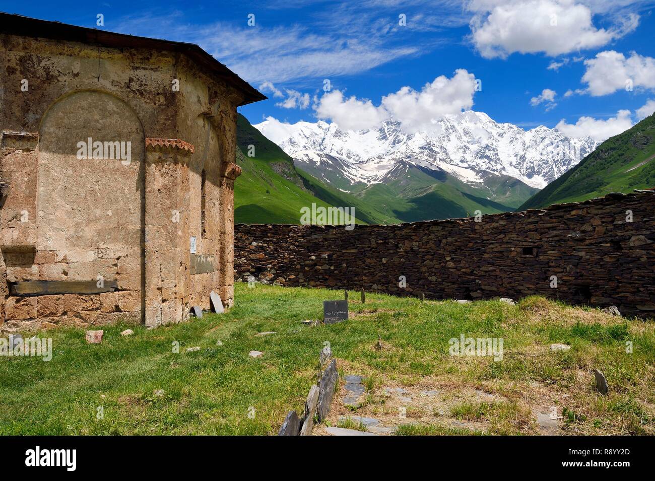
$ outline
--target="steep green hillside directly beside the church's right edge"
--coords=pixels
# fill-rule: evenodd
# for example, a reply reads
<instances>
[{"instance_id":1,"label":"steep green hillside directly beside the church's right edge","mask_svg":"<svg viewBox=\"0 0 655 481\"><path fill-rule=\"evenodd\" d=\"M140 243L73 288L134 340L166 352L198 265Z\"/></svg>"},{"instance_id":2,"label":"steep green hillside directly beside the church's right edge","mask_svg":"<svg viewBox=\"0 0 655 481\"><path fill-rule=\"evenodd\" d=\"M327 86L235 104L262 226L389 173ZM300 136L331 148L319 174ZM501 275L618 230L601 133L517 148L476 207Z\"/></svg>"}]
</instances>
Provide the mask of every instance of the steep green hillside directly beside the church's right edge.
<instances>
[{"instance_id":1,"label":"steep green hillside directly beside the church's right edge","mask_svg":"<svg viewBox=\"0 0 655 481\"><path fill-rule=\"evenodd\" d=\"M354 207L358 223L398 223L362 200L330 187L299 171L280 147L238 116L236 163L242 175L234 183L234 222L243 224L299 224L300 209L312 203L322 207ZM249 146L255 155L249 157Z\"/></svg>"}]
</instances>

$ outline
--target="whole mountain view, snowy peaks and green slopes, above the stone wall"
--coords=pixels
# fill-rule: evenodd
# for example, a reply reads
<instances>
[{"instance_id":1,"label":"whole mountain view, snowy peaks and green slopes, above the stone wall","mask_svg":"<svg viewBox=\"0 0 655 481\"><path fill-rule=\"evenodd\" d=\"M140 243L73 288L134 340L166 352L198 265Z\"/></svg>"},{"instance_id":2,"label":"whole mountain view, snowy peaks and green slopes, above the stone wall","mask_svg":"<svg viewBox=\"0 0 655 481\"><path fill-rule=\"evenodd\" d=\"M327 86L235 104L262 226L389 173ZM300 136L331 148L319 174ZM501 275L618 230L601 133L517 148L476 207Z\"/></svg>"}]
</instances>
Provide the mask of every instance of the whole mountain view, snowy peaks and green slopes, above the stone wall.
<instances>
[{"instance_id":1,"label":"whole mountain view, snowy peaks and green slopes, above the stone wall","mask_svg":"<svg viewBox=\"0 0 655 481\"><path fill-rule=\"evenodd\" d=\"M237 163L244 173L234 187L235 222L298 224L301 207L315 203L352 206L358 223L394 224L654 187L653 124L650 116L599 145L475 111L415 134L392 121L345 132L322 121L251 125L239 115Z\"/></svg>"}]
</instances>

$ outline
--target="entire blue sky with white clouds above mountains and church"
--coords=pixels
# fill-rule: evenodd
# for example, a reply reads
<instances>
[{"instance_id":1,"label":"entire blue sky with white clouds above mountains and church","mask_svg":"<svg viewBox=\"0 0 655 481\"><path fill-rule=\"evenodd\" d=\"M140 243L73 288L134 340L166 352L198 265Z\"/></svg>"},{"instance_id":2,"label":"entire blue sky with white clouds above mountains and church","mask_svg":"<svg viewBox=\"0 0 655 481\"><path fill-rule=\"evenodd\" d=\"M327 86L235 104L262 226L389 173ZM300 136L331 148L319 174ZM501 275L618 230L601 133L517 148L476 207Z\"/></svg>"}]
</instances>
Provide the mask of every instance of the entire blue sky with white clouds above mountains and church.
<instances>
[{"instance_id":1,"label":"entire blue sky with white clouds above mountains and church","mask_svg":"<svg viewBox=\"0 0 655 481\"><path fill-rule=\"evenodd\" d=\"M365 128L397 117L417 130L472 108L523 128L558 126L567 135L602 139L655 109L653 1L0 6L86 27L96 27L102 13L98 28L197 43L269 96L240 109L252 123L269 116L282 122L323 118Z\"/></svg>"}]
</instances>

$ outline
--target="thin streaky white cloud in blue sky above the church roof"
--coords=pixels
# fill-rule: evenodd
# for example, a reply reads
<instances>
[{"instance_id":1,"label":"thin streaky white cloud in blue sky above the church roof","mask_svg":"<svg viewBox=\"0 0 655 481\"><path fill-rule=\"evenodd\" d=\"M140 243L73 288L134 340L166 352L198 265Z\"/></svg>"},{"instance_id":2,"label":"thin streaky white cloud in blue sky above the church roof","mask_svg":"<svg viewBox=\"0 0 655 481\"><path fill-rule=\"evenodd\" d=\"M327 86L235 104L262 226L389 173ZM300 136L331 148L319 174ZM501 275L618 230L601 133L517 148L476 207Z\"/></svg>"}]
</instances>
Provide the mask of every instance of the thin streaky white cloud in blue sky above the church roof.
<instances>
[{"instance_id":1,"label":"thin streaky white cloud in blue sky above the church roof","mask_svg":"<svg viewBox=\"0 0 655 481\"><path fill-rule=\"evenodd\" d=\"M248 26L245 17L242 22L203 24L183 22L181 12L170 12L158 18L151 14L124 18L119 30L149 37L161 37L166 32L170 40L200 45L248 82L301 85L308 84L310 79L356 75L399 58L434 50L441 43L439 39L419 43L417 35L462 24L462 13L451 3L442 2L453 14L448 16L443 10L441 20L426 14L432 9L425 8L428 3L424 0L402 5L368 0L316 9L306 20L295 24L269 25L259 22L256 14L255 26ZM372 6L376 8L371 9ZM272 4L266 8L283 6ZM400 13L407 16L405 26L399 25Z\"/></svg>"}]
</instances>

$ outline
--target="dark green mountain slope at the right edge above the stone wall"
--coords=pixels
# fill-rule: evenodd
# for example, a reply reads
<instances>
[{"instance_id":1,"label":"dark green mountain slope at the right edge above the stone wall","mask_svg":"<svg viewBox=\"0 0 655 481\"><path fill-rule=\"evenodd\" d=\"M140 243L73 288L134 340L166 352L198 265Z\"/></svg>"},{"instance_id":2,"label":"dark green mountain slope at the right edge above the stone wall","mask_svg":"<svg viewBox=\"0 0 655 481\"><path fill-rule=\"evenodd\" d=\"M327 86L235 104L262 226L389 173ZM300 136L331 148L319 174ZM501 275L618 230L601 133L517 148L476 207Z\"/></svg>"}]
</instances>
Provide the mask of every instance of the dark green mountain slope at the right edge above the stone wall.
<instances>
[{"instance_id":1,"label":"dark green mountain slope at the right edge above the stone wall","mask_svg":"<svg viewBox=\"0 0 655 481\"><path fill-rule=\"evenodd\" d=\"M652 187L655 187L655 115L601 143L580 164L527 200L519 210Z\"/></svg>"}]
</instances>

